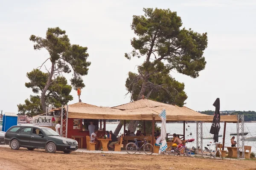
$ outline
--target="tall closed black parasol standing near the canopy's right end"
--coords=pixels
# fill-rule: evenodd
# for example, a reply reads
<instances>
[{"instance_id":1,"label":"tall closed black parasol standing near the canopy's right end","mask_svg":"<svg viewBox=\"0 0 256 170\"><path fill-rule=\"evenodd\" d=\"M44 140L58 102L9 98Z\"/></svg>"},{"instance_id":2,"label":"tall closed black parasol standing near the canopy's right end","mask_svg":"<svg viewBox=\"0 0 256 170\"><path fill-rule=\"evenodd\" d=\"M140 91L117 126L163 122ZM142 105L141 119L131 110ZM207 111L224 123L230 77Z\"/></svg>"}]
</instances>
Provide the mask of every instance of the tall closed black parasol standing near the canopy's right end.
<instances>
[{"instance_id":1,"label":"tall closed black parasol standing near the canopy's right end","mask_svg":"<svg viewBox=\"0 0 256 170\"><path fill-rule=\"evenodd\" d=\"M213 134L213 140L214 142L218 142L218 133L220 131L220 120L221 120L221 115L220 115L220 99L217 98L215 102L213 103L215 106L215 113L214 117L212 120L212 127L210 130L210 133Z\"/></svg>"}]
</instances>

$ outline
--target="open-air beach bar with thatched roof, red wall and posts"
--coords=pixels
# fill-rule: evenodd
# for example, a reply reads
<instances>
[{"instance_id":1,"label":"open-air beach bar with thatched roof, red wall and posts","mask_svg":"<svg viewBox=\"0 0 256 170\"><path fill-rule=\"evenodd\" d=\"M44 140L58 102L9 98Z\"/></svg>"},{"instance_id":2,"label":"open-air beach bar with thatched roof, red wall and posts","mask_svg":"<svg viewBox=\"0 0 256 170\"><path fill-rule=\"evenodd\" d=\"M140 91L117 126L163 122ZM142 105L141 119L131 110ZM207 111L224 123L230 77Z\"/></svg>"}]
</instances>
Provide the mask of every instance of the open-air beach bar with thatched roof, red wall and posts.
<instances>
[{"instance_id":1,"label":"open-air beach bar with thatched roof, red wall and posts","mask_svg":"<svg viewBox=\"0 0 256 170\"><path fill-rule=\"evenodd\" d=\"M213 116L198 113L185 106L179 107L177 105L169 105L150 99L140 99L135 102L129 102L112 108L78 102L72 105L64 105L61 108L53 109L51 111L61 112L61 135L76 139L79 142L79 147L88 148L86 136L90 136L89 131L87 130L90 122L93 122L96 128L99 129L97 136L103 136L106 130L106 120L118 119L124 120L124 123L125 120L143 120L151 121L152 125L154 125L155 122L161 121L158 114L160 114L163 109L166 109L166 122L183 122L183 134L179 134L180 138L183 140L185 139L185 122L195 121L197 123L197 149L201 150L203 148L202 124L203 122L212 122ZM240 118L239 116L222 115L221 122L225 122L225 124L227 122L237 123L238 126L240 125L238 129L241 129L241 123L243 123L241 116L243 115L241 115ZM148 140L154 145L154 128L152 128L152 134L149 138L151 139ZM223 147L224 150L224 141L221 147ZM241 149L241 152L239 153L239 148L241 147L244 148L243 142L240 142L240 144L238 143L237 153L238 157L243 158L244 149Z\"/></svg>"}]
</instances>

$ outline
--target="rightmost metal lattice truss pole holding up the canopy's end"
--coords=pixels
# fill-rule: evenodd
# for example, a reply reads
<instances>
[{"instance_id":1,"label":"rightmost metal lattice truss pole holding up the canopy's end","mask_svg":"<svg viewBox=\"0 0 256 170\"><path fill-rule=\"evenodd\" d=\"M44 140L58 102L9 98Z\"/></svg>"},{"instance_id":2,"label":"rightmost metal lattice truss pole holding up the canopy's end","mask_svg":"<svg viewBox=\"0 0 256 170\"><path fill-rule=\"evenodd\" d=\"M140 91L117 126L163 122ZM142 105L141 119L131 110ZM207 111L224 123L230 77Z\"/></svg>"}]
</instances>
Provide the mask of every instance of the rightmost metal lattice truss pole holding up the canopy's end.
<instances>
[{"instance_id":1,"label":"rightmost metal lattice truss pole holding up the canopy's end","mask_svg":"<svg viewBox=\"0 0 256 170\"><path fill-rule=\"evenodd\" d=\"M237 115L237 158L244 158L244 115Z\"/></svg>"}]
</instances>

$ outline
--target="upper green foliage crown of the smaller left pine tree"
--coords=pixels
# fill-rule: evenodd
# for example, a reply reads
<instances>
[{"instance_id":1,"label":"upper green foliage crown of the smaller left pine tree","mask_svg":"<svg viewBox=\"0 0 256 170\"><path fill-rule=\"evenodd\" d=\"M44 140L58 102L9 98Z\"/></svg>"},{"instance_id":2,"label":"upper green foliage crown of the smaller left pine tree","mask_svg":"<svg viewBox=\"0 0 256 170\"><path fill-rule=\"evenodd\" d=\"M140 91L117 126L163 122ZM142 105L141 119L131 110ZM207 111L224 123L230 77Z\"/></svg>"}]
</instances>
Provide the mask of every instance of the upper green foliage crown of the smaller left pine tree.
<instances>
[{"instance_id":1,"label":"upper green foliage crown of the smaller left pine tree","mask_svg":"<svg viewBox=\"0 0 256 170\"><path fill-rule=\"evenodd\" d=\"M87 62L87 47L71 45L66 31L59 27L48 28L46 37L31 35L29 40L35 42L34 49L45 48L50 55L50 61L54 63L55 73L70 73L73 70L71 85L74 89L85 87L81 76L87 75L90 62ZM71 69L72 68L72 69ZM51 72L52 73L52 72ZM52 77L50 77L52 78Z\"/></svg>"}]
</instances>

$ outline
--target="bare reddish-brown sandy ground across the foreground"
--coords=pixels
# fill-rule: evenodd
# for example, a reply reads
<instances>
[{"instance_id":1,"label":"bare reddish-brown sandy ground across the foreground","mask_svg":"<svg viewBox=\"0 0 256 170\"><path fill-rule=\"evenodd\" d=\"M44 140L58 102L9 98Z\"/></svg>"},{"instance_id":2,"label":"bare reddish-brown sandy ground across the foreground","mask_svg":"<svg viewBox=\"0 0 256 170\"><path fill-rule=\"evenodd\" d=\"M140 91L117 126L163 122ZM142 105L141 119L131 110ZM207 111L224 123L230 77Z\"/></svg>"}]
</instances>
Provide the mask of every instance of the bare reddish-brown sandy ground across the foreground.
<instances>
[{"instance_id":1,"label":"bare reddish-brown sandy ground across the foreground","mask_svg":"<svg viewBox=\"0 0 256 170\"><path fill-rule=\"evenodd\" d=\"M102 156L105 154L105 156ZM169 155L47 153L0 147L0 170L256 170L253 160L220 160Z\"/></svg>"}]
</instances>

